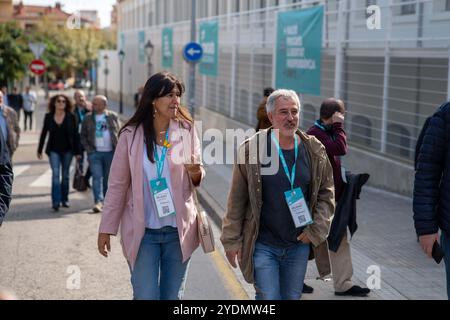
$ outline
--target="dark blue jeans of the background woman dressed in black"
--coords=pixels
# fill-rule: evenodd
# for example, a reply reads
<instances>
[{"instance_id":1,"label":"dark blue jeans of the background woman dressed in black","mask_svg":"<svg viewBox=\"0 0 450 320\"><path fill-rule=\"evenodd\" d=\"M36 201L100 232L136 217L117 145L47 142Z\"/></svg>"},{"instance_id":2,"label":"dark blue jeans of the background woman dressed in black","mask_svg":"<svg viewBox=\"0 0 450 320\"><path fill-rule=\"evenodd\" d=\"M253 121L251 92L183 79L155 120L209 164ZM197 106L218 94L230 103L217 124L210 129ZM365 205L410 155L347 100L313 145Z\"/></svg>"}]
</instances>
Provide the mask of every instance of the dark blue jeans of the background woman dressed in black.
<instances>
[{"instance_id":1,"label":"dark blue jeans of the background woman dressed in black","mask_svg":"<svg viewBox=\"0 0 450 320\"><path fill-rule=\"evenodd\" d=\"M73 154L70 151L65 153L50 152L49 160L50 167L52 168L53 207L59 207L61 202L69 201L69 170L72 157Z\"/></svg>"}]
</instances>

